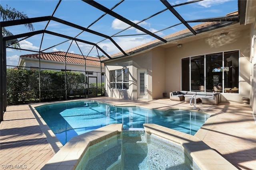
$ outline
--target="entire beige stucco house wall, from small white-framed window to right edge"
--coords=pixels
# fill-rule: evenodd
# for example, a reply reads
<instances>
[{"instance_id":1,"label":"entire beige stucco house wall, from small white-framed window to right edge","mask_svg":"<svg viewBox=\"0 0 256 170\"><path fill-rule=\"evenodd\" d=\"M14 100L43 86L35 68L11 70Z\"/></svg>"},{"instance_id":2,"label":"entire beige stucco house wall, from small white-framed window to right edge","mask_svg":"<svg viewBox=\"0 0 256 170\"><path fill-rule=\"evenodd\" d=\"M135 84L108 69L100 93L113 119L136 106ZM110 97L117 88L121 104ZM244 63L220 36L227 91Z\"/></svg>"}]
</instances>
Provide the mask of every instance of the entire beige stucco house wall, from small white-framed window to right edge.
<instances>
[{"instance_id":1,"label":"entire beige stucco house wall, from small white-framed window to right edge","mask_svg":"<svg viewBox=\"0 0 256 170\"><path fill-rule=\"evenodd\" d=\"M231 26L232 27L232 26ZM240 30L230 29L225 37L219 34L205 33L202 39L193 39L187 43L182 43L181 48L174 47L163 48L156 47L150 51L125 57L114 61L106 62L106 80L109 79L108 70L116 70L129 67L130 88L126 90L126 98L137 99L137 71L140 68L148 70L148 99L162 98L163 92L169 95L169 92L181 90L181 59L196 55L218 53L223 51L240 50L239 58L239 94L222 93L222 102L240 102L242 97L250 98L252 94L251 81L251 63L250 63L250 29L244 25L239 25ZM235 31L232 31L235 30ZM212 35L212 36L210 36ZM189 37L191 39L191 37ZM106 87L109 82L106 82ZM116 98L123 98L123 92L113 90L107 87L107 95ZM121 90L122 91L122 90Z\"/></svg>"}]
</instances>

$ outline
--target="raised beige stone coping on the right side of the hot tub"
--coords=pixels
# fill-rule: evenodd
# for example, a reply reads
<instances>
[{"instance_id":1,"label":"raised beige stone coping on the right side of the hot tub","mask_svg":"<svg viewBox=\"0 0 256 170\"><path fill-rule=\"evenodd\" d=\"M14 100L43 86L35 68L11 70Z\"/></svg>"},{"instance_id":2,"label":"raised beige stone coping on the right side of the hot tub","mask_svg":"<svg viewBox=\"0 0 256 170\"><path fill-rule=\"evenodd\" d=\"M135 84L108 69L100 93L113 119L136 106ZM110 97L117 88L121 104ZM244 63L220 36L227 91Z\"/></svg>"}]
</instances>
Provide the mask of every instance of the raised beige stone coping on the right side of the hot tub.
<instances>
[{"instance_id":1,"label":"raised beige stone coping on the right side of the hot tub","mask_svg":"<svg viewBox=\"0 0 256 170\"><path fill-rule=\"evenodd\" d=\"M153 134L164 141L167 140L172 145L182 147L185 154L191 159L193 166L199 167L201 170L237 170L233 164L196 136L156 124L145 123L143 125L146 133Z\"/></svg>"}]
</instances>

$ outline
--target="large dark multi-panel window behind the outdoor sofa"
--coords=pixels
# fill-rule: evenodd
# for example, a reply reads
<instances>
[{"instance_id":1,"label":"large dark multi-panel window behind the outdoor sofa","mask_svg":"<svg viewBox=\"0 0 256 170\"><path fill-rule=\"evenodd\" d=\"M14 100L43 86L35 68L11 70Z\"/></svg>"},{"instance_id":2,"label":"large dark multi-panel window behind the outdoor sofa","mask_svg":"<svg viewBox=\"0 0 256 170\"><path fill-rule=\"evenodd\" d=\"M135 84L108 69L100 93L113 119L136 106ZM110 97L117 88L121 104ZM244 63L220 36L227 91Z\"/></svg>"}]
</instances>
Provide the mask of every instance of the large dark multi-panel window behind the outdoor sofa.
<instances>
[{"instance_id":1,"label":"large dark multi-panel window behind the outdoor sofa","mask_svg":"<svg viewBox=\"0 0 256 170\"><path fill-rule=\"evenodd\" d=\"M238 60L239 51L182 59L182 90L238 93Z\"/></svg>"}]
</instances>

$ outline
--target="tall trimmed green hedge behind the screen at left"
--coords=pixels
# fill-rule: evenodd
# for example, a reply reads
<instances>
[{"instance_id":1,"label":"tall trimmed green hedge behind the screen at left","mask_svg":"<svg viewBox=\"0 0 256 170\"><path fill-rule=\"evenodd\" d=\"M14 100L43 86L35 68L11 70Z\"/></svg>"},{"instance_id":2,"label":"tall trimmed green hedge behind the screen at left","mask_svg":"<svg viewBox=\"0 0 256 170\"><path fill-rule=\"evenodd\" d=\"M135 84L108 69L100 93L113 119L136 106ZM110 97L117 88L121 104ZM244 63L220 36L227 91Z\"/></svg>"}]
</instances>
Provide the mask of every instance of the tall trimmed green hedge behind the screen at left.
<instances>
[{"instance_id":1,"label":"tall trimmed green hedge behind the screen at left","mask_svg":"<svg viewBox=\"0 0 256 170\"><path fill-rule=\"evenodd\" d=\"M62 71L42 70L40 72L41 98L39 98L38 71L8 68L6 78L7 104L59 100L65 96L65 72ZM66 72L68 96L85 94L84 79L84 74L80 72Z\"/></svg>"}]
</instances>

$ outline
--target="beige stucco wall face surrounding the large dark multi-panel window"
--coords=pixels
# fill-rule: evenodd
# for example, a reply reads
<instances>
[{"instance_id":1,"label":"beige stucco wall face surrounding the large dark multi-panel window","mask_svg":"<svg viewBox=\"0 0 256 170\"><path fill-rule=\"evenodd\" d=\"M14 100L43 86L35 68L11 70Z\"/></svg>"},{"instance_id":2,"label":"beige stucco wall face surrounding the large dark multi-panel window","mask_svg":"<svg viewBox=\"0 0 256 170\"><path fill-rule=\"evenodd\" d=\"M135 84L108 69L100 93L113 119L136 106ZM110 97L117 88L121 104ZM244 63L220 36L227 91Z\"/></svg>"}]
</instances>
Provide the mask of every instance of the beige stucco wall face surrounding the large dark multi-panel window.
<instances>
[{"instance_id":1,"label":"beige stucco wall face surrounding the large dark multi-panel window","mask_svg":"<svg viewBox=\"0 0 256 170\"><path fill-rule=\"evenodd\" d=\"M230 31L225 37L215 35L182 44L181 48L166 49L166 91L181 90L181 59L196 55L240 50L239 94L222 93L222 102L242 102L241 97L250 97L250 31ZM189 72L188 72L189 74Z\"/></svg>"}]
</instances>

